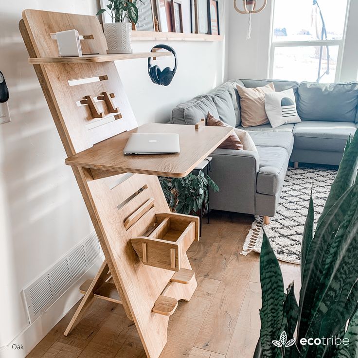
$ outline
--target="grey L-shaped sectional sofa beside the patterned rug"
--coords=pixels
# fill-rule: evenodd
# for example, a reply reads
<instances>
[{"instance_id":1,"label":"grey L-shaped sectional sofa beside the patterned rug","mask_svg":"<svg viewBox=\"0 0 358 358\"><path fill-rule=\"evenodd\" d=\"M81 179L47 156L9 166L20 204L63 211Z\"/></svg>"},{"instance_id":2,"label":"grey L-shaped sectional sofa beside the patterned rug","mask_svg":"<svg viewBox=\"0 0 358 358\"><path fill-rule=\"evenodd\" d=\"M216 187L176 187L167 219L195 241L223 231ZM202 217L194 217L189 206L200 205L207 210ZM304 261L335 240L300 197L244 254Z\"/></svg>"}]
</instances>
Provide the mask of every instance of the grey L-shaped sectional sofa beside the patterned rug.
<instances>
[{"instance_id":1,"label":"grey L-shaped sectional sofa beside the patterned rug","mask_svg":"<svg viewBox=\"0 0 358 358\"><path fill-rule=\"evenodd\" d=\"M302 122L275 129L243 128L236 84L276 91L293 88ZM338 165L349 135L358 127L358 83L317 84L277 80L231 80L213 92L178 105L172 123L194 125L207 112L228 125L250 131L258 153L216 149L211 177L220 191L211 193L211 209L274 216L289 161Z\"/></svg>"}]
</instances>

